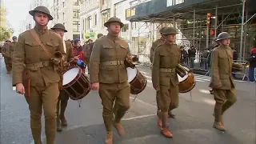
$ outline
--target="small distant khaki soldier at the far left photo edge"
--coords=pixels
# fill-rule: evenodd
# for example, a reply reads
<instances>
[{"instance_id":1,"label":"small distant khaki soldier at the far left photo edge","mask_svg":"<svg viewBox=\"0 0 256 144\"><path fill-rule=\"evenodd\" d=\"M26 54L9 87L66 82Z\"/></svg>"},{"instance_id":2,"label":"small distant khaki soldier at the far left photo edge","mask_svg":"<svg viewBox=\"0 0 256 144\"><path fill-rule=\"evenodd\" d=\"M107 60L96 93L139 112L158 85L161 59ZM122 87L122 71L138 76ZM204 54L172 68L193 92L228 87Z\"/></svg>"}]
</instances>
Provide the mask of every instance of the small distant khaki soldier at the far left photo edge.
<instances>
[{"instance_id":1,"label":"small distant khaki soldier at the far left photo edge","mask_svg":"<svg viewBox=\"0 0 256 144\"><path fill-rule=\"evenodd\" d=\"M2 56L5 59L7 74L11 72L11 59L10 59L10 43L11 40L7 39L6 43L2 46Z\"/></svg>"}]
</instances>

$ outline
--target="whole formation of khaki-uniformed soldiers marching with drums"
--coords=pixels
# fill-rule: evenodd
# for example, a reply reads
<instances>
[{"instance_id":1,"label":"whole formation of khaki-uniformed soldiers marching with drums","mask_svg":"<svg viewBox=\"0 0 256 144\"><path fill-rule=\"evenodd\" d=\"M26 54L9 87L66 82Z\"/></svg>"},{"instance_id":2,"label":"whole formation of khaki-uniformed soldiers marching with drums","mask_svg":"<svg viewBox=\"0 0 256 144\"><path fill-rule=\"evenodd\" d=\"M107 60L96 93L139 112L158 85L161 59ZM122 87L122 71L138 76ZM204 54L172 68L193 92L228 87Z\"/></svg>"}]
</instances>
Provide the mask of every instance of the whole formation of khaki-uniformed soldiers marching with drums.
<instances>
[{"instance_id":1,"label":"whole formation of khaki-uniformed soldiers marching with drums","mask_svg":"<svg viewBox=\"0 0 256 144\"><path fill-rule=\"evenodd\" d=\"M102 118L106 127L106 144L112 144L112 126L120 136L126 134L122 118L130 109L130 94L140 94L147 84L146 77L136 68L138 57L130 54L128 43L119 37L124 24L119 18L110 18L104 26L108 34L88 46L92 52L79 53L80 41L64 41L65 26L58 23L50 30L47 24L53 17L45 6L30 10L36 25L6 40L2 54L7 73L12 73L13 86L24 94L30 109L30 128L35 144L42 144L42 109L45 116L46 143L54 144L56 131L62 131L68 122L65 111L69 98L80 100L98 90L102 99ZM176 42L174 27L159 30L162 37L152 44L152 82L156 90L158 126L166 138L173 134L168 129L168 117L178 107L178 94L190 92L195 86L193 71L181 63L181 47ZM18 40L18 41L17 41ZM233 62L230 34L222 32L216 39L218 46L211 56L211 81L214 99L214 128L224 129L223 114L236 102L232 72L242 70ZM11 43L10 43L11 42ZM85 74L88 65L90 76ZM89 69L90 67L90 69Z\"/></svg>"}]
</instances>

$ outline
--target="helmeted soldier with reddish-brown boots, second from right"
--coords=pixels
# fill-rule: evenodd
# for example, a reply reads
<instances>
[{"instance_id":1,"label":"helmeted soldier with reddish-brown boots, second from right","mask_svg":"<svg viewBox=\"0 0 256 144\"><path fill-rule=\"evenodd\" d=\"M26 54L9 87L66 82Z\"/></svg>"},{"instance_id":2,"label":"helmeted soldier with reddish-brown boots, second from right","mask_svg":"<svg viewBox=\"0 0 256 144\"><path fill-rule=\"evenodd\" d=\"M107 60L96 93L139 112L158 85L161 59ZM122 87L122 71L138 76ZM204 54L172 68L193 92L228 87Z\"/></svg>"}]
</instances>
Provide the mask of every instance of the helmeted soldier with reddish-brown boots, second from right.
<instances>
[{"instance_id":1,"label":"helmeted soldier with reddish-brown boots, second from right","mask_svg":"<svg viewBox=\"0 0 256 144\"><path fill-rule=\"evenodd\" d=\"M172 138L167 127L168 110L178 107L178 76L176 66L180 62L181 50L175 44L177 30L166 27L162 35L166 42L159 45L154 51L152 66L152 82L158 91L162 119L162 134Z\"/></svg>"}]
</instances>

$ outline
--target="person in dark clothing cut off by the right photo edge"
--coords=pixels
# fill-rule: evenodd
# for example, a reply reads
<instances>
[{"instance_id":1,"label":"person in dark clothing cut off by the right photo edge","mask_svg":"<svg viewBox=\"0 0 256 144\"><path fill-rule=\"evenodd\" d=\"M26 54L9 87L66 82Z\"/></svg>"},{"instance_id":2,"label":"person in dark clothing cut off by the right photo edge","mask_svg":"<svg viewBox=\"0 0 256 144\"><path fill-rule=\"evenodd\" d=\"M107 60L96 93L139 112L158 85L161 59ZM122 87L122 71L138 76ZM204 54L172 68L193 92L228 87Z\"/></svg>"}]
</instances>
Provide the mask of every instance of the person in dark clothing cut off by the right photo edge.
<instances>
[{"instance_id":1,"label":"person in dark clothing cut off by the right photo edge","mask_svg":"<svg viewBox=\"0 0 256 144\"><path fill-rule=\"evenodd\" d=\"M254 41L254 48L250 50L250 62L249 66L249 80L250 82L256 82L255 79L255 68L256 68L256 41Z\"/></svg>"}]
</instances>

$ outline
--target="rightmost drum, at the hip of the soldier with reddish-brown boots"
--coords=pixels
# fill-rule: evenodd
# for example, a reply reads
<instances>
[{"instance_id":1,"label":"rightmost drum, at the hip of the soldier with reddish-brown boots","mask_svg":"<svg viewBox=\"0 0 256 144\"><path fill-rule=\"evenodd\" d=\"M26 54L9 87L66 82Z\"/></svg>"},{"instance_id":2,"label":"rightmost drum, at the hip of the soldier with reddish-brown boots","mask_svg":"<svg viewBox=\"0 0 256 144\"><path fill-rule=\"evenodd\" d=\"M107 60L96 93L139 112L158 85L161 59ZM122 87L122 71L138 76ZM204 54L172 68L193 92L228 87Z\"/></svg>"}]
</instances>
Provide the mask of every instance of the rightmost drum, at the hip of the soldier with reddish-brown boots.
<instances>
[{"instance_id":1,"label":"rightmost drum, at the hip of the soldier with reddish-brown boots","mask_svg":"<svg viewBox=\"0 0 256 144\"><path fill-rule=\"evenodd\" d=\"M190 92L190 90L194 89L196 83L194 74L186 74L183 78L178 75L178 82L179 93Z\"/></svg>"}]
</instances>

